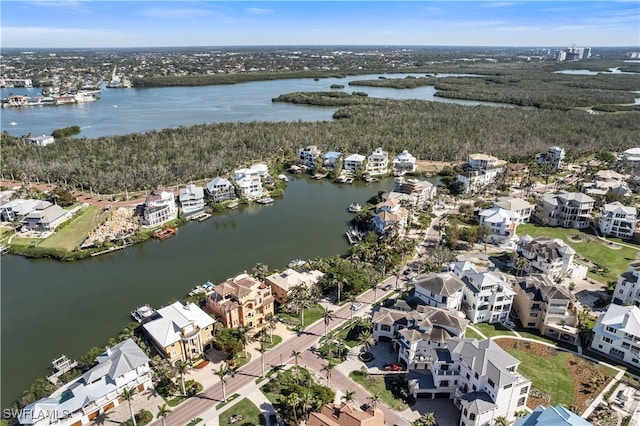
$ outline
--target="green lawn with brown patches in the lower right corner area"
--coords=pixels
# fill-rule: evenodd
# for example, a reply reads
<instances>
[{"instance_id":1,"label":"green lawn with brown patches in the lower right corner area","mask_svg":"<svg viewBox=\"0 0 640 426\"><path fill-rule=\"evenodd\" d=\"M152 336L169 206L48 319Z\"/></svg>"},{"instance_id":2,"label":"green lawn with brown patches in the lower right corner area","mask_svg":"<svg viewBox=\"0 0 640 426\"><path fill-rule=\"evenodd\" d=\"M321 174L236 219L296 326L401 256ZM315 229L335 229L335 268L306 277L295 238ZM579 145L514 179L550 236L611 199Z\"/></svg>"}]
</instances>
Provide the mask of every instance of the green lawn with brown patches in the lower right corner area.
<instances>
[{"instance_id":1,"label":"green lawn with brown patches in the lower right corner area","mask_svg":"<svg viewBox=\"0 0 640 426\"><path fill-rule=\"evenodd\" d=\"M508 349L507 352L521 361L518 372L551 397L551 405L571 407L575 388L567 368L567 359L571 356L569 353L557 351L553 357L543 358L521 349Z\"/></svg>"}]
</instances>

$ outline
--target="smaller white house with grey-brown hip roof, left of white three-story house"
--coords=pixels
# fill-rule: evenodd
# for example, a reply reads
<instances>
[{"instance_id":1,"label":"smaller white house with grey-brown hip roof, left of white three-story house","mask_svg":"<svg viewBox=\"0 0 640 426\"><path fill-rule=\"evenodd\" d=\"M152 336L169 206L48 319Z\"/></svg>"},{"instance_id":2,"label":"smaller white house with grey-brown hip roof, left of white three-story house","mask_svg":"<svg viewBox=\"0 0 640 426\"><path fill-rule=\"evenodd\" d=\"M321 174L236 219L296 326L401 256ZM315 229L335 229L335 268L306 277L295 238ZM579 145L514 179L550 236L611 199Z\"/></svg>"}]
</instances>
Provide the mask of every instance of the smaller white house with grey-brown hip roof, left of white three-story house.
<instances>
[{"instance_id":1,"label":"smaller white house with grey-brown hip roof, left of white three-story house","mask_svg":"<svg viewBox=\"0 0 640 426\"><path fill-rule=\"evenodd\" d=\"M429 306L460 310L464 283L451 272L418 275L415 296Z\"/></svg>"}]
</instances>

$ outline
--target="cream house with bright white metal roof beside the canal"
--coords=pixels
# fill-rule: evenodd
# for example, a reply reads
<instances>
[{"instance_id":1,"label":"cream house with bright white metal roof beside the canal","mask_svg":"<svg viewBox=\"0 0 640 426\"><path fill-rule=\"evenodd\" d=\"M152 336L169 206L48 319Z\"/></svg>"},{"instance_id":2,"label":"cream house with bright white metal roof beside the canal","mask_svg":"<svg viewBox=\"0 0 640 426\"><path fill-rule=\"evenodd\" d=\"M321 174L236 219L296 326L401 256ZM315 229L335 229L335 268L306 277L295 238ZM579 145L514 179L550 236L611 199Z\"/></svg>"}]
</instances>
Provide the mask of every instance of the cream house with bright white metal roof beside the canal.
<instances>
[{"instance_id":1,"label":"cream house with bright white metal roof beside the canal","mask_svg":"<svg viewBox=\"0 0 640 426\"><path fill-rule=\"evenodd\" d=\"M175 302L158 309L157 316L142 327L172 364L199 358L213 342L215 320L194 303Z\"/></svg>"}]
</instances>

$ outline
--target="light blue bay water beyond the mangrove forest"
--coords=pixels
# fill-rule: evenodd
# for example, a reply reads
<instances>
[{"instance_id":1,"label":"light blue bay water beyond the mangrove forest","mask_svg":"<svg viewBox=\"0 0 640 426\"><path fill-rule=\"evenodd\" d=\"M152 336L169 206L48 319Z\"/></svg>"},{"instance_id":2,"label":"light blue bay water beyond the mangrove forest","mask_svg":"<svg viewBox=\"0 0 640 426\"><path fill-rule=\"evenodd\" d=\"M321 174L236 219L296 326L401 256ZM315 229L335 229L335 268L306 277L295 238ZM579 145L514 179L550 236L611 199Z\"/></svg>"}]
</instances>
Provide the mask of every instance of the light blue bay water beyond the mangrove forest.
<instances>
[{"instance_id":1,"label":"light blue bay water beyond the mangrove forest","mask_svg":"<svg viewBox=\"0 0 640 426\"><path fill-rule=\"evenodd\" d=\"M391 99L421 99L462 105L492 105L491 102L445 99L434 96L433 86L416 89L387 89L349 86L349 81L377 78L380 74L347 78L312 78L258 81L233 85L202 87L164 87L151 89L104 89L100 99L86 104L4 108L2 130L15 136L51 134L55 129L80 126L80 136L94 138L158 128L230 121L320 121L331 120L335 108L271 102L290 92L328 91L332 84L345 86L342 91L362 91L372 97ZM404 78L408 74L387 74L389 78ZM412 74L424 76L424 74ZM453 77L454 74L438 74ZM458 76L473 76L459 74ZM2 89L0 97L10 93L38 96L39 88ZM11 124L16 123L16 124Z\"/></svg>"}]
</instances>

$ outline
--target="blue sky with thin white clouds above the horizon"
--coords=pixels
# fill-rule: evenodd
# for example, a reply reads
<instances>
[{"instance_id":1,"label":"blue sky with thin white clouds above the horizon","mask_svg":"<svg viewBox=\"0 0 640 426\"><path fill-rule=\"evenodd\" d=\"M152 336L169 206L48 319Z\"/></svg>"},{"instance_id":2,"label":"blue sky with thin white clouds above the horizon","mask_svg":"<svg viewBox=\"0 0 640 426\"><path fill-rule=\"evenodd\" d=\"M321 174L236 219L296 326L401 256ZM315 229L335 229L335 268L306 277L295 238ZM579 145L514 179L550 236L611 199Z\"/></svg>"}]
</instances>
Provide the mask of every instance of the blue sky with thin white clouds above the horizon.
<instances>
[{"instance_id":1,"label":"blue sky with thin white clouds above the horizon","mask_svg":"<svg viewBox=\"0 0 640 426\"><path fill-rule=\"evenodd\" d=\"M2 0L0 12L2 47L640 45L640 0Z\"/></svg>"}]
</instances>

